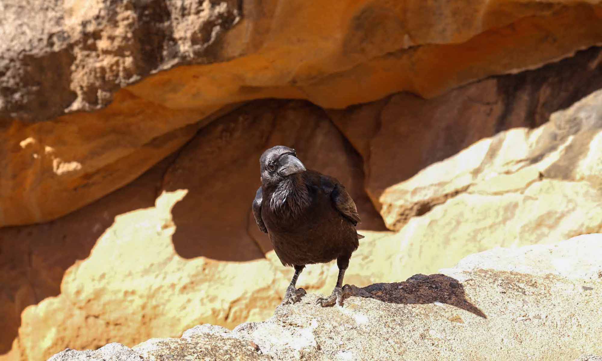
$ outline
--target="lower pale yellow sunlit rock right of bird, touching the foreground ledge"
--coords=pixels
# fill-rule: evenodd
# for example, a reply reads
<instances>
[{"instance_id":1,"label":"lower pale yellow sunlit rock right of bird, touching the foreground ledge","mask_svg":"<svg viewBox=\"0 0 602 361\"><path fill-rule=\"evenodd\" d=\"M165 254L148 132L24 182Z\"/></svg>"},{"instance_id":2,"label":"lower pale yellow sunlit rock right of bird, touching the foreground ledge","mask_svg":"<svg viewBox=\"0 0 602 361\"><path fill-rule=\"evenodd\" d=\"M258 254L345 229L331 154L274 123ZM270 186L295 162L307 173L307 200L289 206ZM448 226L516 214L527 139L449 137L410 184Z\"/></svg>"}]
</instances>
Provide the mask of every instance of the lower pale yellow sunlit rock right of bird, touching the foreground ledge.
<instances>
[{"instance_id":1,"label":"lower pale yellow sunlit rock right of bird, touching the foreground ledge","mask_svg":"<svg viewBox=\"0 0 602 361\"><path fill-rule=\"evenodd\" d=\"M600 232L601 207L600 190L580 182L544 179L520 193L460 194L391 236L397 247L389 259L396 258L396 267L406 272L432 272L497 246L553 243Z\"/></svg>"}]
</instances>

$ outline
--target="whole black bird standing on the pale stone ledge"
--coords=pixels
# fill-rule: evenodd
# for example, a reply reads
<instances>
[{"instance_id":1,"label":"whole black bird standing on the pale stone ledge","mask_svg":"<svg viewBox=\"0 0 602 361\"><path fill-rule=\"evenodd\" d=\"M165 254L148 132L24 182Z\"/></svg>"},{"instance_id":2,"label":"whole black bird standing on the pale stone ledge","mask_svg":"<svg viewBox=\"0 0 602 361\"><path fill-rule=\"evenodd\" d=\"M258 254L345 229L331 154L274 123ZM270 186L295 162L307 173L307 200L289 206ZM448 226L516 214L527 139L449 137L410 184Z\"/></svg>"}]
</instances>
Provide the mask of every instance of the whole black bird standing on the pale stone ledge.
<instances>
[{"instance_id":1,"label":"whole black bird standing on the pale stone ledge","mask_svg":"<svg viewBox=\"0 0 602 361\"><path fill-rule=\"evenodd\" d=\"M306 265L336 259L337 285L315 304L343 306L343 277L364 238L356 230L361 220L352 197L335 177L307 170L290 147L265 150L259 167L261 186L252 203L255 222L268 234L282 265L295 270L281 304L297 303L306 294L296 289Z\"/></svg>"}]
</instances>

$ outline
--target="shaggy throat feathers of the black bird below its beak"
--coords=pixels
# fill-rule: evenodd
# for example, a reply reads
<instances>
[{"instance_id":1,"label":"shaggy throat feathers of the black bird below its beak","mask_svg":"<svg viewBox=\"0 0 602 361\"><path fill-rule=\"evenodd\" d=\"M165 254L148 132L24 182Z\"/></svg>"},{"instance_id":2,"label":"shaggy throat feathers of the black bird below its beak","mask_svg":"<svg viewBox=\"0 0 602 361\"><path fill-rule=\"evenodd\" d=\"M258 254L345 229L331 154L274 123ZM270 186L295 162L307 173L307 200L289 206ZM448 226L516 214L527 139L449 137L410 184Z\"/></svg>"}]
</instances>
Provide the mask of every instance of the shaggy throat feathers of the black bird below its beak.
<instances>
[{"instance_id":1,"label":"shaggy throat feathers of the black bird below its beak","mask_svg":"<svg viewBox=\"0 0 602 361\"><path fill-rule=\"evenodd\" d=\"M309 206L309 190L300 173L286 177L272 193L270 209L278 215L299 215Z\"/></svg>"}]
</instances>

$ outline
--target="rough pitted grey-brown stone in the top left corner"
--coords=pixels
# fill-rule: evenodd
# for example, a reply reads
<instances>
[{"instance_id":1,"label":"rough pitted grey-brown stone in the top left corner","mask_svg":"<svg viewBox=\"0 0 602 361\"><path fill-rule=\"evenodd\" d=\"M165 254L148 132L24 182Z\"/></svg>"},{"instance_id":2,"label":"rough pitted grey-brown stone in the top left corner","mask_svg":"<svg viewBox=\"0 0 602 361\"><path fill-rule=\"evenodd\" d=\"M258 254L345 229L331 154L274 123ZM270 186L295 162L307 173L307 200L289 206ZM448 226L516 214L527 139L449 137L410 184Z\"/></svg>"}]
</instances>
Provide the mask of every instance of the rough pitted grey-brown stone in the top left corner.
<instances>
[{"instance_id":1,"label":"rough pitted grey-brown stone in the top left corner","mask_svg":"<svg viewBox=\"0 0 602 361\"><path fill-rule=\"evenodd\" d=\"M99 109L151 73L225 60L219 43L240 7L237 0L5 1L0 119Z\"/></svg>"}]
</instances>

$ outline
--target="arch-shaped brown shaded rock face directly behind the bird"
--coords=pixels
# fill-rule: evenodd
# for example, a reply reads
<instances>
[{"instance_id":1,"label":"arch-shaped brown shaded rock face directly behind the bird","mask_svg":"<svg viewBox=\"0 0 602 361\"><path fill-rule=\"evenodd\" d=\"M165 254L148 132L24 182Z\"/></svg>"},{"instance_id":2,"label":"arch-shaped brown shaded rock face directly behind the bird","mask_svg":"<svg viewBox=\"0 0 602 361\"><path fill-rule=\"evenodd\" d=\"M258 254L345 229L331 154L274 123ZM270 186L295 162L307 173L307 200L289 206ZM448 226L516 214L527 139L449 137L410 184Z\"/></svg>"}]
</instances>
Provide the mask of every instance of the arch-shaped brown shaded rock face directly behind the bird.
<instances>
[{"instance_id":1,"label":"arch-shaped brown shaded rock face directly behind the bird","mask_svg":"<svg viewBox=\"0 0 602 361\"><path fill-rule=\"evenodd\" d=\"M252 261L272 250L251 203L261 184L259 156L277 144L295 148L306 167L346 186L362 217L360 229L385 230L364 190L361 156L324 110L304 100L254 100L200 129L166 171L164 190L188 190L172 209L179 256Z\"/></svg>"}]
</instances>

